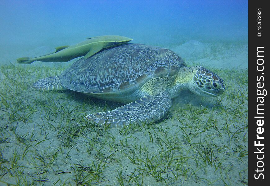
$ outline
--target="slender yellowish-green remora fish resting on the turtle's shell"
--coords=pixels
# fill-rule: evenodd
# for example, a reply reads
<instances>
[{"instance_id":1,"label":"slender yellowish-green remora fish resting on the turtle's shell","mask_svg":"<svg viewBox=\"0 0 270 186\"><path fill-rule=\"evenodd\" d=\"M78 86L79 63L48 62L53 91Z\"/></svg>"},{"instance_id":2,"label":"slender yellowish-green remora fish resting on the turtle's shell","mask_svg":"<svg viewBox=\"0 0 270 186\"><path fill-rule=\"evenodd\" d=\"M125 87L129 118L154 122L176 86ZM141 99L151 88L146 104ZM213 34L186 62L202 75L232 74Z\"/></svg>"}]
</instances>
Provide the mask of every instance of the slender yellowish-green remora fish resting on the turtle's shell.
<instances>
[{"instance_id":1,"label":"slender yellowish-green remora fish resting on the turtle's shell","mask_svg":"<svg viewBox=\"0 0 270 186\"><path fill-rule=\"evenodd\" d=\"M56 47L56 51L39 57L22 57L17 59L17 63L30 64L34 61L47 62L67 62L74 58L84 56L88 58L102 49L124 45L133 39L124 36L105 35L93 38L87 38L86 41L72 46Z\"/></svg>"}]
</instances>

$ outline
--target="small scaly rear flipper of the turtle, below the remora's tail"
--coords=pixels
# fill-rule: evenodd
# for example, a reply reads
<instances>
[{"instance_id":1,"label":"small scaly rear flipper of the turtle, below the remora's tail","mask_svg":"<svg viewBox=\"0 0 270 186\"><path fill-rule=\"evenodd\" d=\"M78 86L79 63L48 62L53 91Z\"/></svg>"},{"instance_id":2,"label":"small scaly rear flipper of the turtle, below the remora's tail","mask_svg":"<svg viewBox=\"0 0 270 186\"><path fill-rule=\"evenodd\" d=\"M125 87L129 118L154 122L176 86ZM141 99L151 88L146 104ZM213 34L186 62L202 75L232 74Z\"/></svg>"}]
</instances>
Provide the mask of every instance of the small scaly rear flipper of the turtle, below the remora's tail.
<instances>
[{"instance_id":1,"label":"small scaly rear flipper of the turtle, below the remora's tail","mask_svg":"<svg viewBox=\"0 0 270 186\"><path fill-rule=\"evenodd\" d=\"M66 90L66 88L61 85L59 76L51 76L43 79L39 79L31 85L31 88L38 91L53 91L53 90Z\"/></svg>"}]
</instances>

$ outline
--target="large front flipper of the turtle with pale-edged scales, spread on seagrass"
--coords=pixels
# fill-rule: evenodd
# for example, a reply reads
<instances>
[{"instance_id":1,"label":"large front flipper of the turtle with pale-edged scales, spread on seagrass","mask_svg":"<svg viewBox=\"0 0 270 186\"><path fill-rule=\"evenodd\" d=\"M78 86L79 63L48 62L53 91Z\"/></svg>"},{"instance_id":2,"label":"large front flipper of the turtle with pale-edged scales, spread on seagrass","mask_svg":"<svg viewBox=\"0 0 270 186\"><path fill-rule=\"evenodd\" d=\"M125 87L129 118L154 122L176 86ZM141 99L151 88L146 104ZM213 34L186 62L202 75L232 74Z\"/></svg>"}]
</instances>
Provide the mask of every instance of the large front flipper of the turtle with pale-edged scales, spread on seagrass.
<instances>
[{"instance_id":1,"label":"large front flipper of the turtle with pale-edged scales, spread on seagrass","mask_svg":"<svg viewBox=\"0 0 270 186\"><path fill-rule=\"evenodd\" d=\"M165 93L146 95L130 104L108 112L92 113L84 117L88 122L111 128L122 128L129 124L139 125L155 122L164 117L172 100Z\"/></svg>"}]
</instances>

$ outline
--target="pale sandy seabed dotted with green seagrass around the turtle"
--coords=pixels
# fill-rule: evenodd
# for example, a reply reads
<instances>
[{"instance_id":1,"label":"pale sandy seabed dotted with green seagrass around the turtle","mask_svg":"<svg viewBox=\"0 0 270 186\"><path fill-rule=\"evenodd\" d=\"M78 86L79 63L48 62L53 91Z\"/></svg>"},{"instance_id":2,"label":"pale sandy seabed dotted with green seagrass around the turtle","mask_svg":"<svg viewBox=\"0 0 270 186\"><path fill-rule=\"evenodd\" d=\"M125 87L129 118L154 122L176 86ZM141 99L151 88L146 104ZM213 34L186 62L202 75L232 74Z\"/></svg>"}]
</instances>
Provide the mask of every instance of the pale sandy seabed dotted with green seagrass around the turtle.
<instances>
[{"instance_id":1,"label":"pale sandy seabed dotted with green seagrass around the turtle","mask_svg":"<svg viewBox=\"0 0 270 186\"><path fill-rule=\"evenodd\" d=\"M2 55L0 185L248 185L248 44L189 40L162 47L188 66L217 73L226 90L212 98L183 91L162 120L123 129L83 119L121 104L29 88L75 60L14 63L49 47Z\"/></svg>"}]
</instances>

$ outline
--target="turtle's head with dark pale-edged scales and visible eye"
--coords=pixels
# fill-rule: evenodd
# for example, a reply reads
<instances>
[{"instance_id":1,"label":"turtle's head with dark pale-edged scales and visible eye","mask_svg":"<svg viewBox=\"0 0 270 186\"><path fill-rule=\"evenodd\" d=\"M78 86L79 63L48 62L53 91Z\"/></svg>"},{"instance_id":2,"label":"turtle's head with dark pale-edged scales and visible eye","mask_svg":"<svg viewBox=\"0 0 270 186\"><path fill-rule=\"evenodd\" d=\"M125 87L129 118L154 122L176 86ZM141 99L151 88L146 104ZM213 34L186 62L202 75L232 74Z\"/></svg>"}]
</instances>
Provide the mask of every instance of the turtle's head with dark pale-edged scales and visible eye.
<instances>
[{"instance_id":1,"label":"turtle's head with dark pale-edged scales and visible eye","mask_svg":"<svg viewBox=\"0 0 270 186\"><path fill-rule=\"evenodd\" d=\"M224 82L217 74L201 66L191 67L189 72L193 77L188 83L188 89L194 94L214 97L222 95L224 92Z\"/></svg>"}]
</instances>

